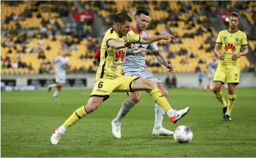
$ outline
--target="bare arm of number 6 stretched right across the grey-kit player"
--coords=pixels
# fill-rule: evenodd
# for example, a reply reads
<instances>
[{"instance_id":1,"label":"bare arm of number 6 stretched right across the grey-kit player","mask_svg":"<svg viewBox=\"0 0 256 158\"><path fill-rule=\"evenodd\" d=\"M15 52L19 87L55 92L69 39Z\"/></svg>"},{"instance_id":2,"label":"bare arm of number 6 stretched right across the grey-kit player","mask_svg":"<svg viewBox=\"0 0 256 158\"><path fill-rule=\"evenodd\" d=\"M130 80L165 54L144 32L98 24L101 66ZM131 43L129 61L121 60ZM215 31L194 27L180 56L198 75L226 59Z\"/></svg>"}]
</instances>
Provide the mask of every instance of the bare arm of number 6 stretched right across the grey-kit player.
<instances>
[{"instance_id":1,"label":"bare arm of number 6 stretched right across the grey-kit player","mask_svg":"<svg viewBox=\"0 0 256 158\"><path fill-rule=\"evenodd\" d=\"M173 39L175 40L175 37L170 34L166 35L160 35L160 36L140 36L140 41L138 42L140 45L150 44L156 41L160 41L161 39Z\"/></svg>"}]
</instances>

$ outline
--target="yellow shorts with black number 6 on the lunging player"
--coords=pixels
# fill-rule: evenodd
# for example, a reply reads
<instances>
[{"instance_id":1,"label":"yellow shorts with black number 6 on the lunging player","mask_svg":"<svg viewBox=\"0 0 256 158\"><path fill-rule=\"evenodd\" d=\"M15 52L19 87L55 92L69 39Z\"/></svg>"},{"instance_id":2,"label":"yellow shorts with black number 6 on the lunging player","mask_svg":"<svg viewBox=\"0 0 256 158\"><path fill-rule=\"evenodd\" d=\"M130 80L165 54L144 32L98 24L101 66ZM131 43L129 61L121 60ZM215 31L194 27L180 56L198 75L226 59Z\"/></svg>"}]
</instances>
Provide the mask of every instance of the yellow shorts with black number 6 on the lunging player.
<instances>
[{"instance_id":1,"label":"yellow shorts with black number 6 on the lunging player","mask_svg":"<svg viewBox=\"0 0 256 158\"><path fill-rule=\"evenodd\" d=\"M103 101L109 98L109 95L113 92L127 92L132 91L132 85L134 80L138 79L135 76L121 76L116 79L104 79L100 78L96 80L90 97L104 97Z\"/></svg>"}]
</instances>

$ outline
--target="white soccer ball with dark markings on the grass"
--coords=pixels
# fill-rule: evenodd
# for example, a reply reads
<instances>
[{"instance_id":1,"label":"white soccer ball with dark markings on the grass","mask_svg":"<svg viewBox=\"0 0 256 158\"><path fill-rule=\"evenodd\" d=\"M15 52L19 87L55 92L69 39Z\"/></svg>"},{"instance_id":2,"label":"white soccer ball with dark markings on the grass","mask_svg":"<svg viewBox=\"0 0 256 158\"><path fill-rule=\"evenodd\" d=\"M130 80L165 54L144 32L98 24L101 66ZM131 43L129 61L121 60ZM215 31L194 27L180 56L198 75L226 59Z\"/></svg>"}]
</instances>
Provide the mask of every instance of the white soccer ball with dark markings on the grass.
<instances>
[{"instance_id":1,"label":"white soccer ball with dark markings on the grass","mask_svg":"<svg viewBox=\"0 0 256 158\"><path fill-rule=\"evenodd\" d=\"M178 126L174 131L174 140L177 143L189 143L192 138L193 132L188 126Z\"/></svg>"}]
</instances>

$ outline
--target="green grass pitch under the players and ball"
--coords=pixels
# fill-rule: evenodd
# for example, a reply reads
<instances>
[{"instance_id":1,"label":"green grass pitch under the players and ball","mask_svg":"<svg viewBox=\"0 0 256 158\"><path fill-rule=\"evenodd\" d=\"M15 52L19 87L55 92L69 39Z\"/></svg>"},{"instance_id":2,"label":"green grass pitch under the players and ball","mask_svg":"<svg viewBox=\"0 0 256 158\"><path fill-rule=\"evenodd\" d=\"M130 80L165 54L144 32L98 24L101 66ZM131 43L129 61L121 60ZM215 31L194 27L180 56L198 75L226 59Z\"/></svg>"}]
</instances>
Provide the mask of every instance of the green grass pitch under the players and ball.
<instances>
[{"instance_id":1,"label":"green grass pitch under the players and ball","mask_svg":"<svg viewBox=\"0 0 256 158\"><path fill-rule=\"evenodd\" d=\"M172 137L154 137L154 102L145 92L122 120L122 138L111 133L125 93L109 100L74 127L59 144L49 140L55 127L86 104L91 90L63 90L59 100L46 91L1 93L2 157L256 157L256 89L237 89L232 121L222 119L222 108L213 93L196 89L168 90L173 108L190 106L178 124L165 116L163 125L174 130L187 125L193 131L190 144L176 144ZM227 91L223 90L225 98ZM84 94L84 97L82 97Z\"/></svg>"}]
</instances>

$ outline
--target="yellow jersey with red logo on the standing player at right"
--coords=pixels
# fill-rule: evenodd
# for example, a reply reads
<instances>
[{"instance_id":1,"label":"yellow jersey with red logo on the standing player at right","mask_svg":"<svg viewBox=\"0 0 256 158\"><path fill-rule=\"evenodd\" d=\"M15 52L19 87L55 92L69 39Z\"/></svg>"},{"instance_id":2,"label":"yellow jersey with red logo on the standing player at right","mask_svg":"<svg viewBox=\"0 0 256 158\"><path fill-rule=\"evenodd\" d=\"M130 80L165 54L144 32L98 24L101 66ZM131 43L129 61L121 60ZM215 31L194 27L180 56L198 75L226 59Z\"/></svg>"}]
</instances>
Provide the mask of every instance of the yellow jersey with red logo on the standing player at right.
<instances>
[{"instance_id":1,"label":"yellow jersey with red logo on the standing player at right","mask_svg":"<svg viewBox=\"0 0 256 158\"><path fill-rule=\"evenodd\" d=\"M219 65L237 65L240 66L240 58L232 60L232 56L241 50L241 46L248 45L246 34L240 30L229 32L223 30L219 32L216 43L221 44L221 53L224 55L224 60L219 60Z\"/></svg>"}]
</instances>

